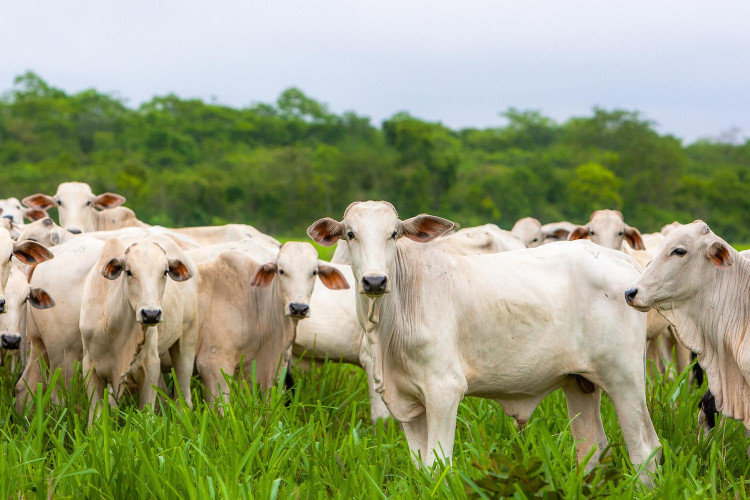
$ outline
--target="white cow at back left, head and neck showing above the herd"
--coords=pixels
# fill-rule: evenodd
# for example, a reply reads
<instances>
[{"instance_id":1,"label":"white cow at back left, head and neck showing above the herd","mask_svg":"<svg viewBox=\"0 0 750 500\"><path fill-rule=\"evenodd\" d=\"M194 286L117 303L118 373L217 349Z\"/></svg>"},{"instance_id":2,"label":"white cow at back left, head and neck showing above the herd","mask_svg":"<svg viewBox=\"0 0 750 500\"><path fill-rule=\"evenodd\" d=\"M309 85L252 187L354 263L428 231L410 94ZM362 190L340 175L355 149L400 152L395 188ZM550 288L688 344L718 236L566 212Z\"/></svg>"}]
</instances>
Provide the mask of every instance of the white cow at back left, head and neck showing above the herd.
<instances>
[{"instance_id":1,"label":"white cow at back left, head and neck showing above the herd","mask_svg":"<svg viewBox=\"0 0 750 500\"><path fill-rule=\"evenodd\" d=\"M125 203L124 196L95 195L91 186L83 182L64 182L54 196L37 193L24 198L23 203L39 210L57 207L60 225L75 234L148 226L132 210L120 206Z\"/></svg>"}]
</instances>

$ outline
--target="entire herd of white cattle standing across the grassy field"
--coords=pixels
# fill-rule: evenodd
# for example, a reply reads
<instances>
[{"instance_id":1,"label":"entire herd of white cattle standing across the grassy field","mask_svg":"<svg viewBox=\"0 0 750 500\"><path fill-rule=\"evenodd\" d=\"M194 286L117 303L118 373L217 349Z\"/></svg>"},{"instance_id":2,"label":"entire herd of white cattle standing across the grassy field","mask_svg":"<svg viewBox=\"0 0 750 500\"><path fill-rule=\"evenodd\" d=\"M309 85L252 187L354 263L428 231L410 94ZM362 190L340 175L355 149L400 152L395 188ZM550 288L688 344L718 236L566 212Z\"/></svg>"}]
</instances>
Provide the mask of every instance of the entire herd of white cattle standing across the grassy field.
<instances>
[{"instance_id":1,"label":"entire herd of white cattle standing across the grassy field","mask_svg":"<svg viewBox=\"0 0 750 500\"><path fill-rule=\"evenodd\" d=\"M704 406L750 427L750 261L701 221L641 234L599 210L584 226L524 218L511 231L453 231L356 202L308 229L338 243L324 262L310 243L248 225L150 226L124 202L78 182L0 200L0 360L23 367L19 412L48 383L44 366L67 383L82 365L91 423L105 388L112 404L127 392L145 407L174 370L191 405L194 374L213 402L230 397L225 374L253 362L266 389L289 363L329 359L364 368L373 421L397 419L426 465L450 460L465 396L523 425L562 389L578 459L596 446L593 467L607 446L603 390L648 481L660 445L645 358L683 370L692 351L708 376Z\"/></svg>"}]
</instances>

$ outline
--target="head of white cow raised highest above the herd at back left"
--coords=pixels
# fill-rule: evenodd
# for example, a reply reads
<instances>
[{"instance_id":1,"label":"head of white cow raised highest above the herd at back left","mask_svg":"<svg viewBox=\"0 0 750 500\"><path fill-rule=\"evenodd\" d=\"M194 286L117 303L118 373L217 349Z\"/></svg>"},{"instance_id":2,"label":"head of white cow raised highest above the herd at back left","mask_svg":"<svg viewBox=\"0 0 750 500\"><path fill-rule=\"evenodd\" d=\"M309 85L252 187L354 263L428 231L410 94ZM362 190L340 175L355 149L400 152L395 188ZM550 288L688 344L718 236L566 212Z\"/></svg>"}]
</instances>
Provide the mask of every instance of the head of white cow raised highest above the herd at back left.
<instances>
[{"instance_id":1,"label":"head of white cow raised highest above the herd at back left","mask_svg":"<svg viewBox=\"0 0 750 500\"><path fill-rule=\"evenodd\" d=\"M39 210L57 207L60 225L74 234L96 231L96 209L114 208L125 203L125 197L114 193L94 195L91 186L83 182L64 182L55 196L33 194L23 199L24 204Z\"/></svg>"}]
</instances>

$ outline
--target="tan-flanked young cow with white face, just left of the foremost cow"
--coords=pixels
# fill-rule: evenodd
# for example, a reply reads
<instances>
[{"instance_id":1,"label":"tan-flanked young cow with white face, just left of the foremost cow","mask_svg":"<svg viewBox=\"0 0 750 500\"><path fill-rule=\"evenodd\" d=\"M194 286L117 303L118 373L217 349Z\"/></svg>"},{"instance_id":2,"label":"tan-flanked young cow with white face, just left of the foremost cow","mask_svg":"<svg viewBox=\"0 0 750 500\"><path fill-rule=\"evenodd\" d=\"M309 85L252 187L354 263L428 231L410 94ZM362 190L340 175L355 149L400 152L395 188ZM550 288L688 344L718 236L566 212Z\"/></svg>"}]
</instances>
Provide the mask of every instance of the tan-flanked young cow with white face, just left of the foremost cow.
<instances>
[{"instance_id":1,"label":"tan-flanked young cow with white face, just left of the foremost cow","mask_svg":"<svg viewBox=\"0 0 750 500\"><path fill-rule=\"evenodd\" d=\"M256 376L262 390L286 367L295 327L310 313L310 296L318 276L332 289L349 285L336 268L318 260L309 243L285 243L276 258L259 264L237 251L198 264L201 309L196 369L206 399L229 396L223 374L242 369ZM283 370L282 370L283 373Z\"/></svg>"}]
</instances>

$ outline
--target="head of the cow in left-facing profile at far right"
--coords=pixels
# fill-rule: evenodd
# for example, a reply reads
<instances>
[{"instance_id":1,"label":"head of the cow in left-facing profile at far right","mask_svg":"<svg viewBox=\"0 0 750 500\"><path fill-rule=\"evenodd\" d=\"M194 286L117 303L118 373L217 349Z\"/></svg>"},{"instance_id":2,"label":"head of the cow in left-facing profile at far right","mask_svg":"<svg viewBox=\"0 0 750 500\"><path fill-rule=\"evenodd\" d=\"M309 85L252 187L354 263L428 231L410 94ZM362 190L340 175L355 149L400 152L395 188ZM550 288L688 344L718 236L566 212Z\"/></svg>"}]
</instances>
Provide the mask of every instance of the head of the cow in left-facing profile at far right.
<instances>
[{"instance_id":1,"label":"head of the cow in left-facing profile at far right","mask_svg":"<svg viewBox=\"0 0 750 500\"><path fill-rule=\"evenodd\" d=\"M692 299L717 273L734 264L737 253L703 221L673 230L640 278L625 292L641 311L670 309Z\"/></svg>"}]
</instances>

